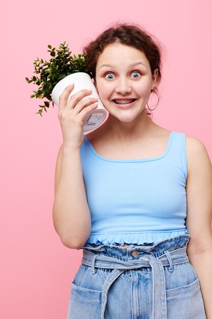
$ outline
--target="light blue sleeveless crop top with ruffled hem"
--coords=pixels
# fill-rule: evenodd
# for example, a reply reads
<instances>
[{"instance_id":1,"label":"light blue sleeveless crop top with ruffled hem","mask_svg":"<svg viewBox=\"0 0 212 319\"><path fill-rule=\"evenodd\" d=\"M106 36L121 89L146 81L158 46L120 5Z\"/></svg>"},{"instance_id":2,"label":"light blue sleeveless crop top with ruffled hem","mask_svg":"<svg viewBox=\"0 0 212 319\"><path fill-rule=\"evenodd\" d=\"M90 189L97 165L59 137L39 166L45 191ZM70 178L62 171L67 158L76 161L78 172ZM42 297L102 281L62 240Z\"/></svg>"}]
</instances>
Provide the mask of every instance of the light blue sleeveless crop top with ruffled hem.
<instances>
[{"instance_id":1,"label":"light blue sleeveless crop top with ruffled hem","mask_svg":"<svg viewBox=\"0 0 212 319\"><path fill-rule=\"evenodd\" d=\"M145 245L189 233L185 137L172 131L158 157L110 159L84 135L80 158L92 220L86 243Z\"/></svg>"}]
</instances>

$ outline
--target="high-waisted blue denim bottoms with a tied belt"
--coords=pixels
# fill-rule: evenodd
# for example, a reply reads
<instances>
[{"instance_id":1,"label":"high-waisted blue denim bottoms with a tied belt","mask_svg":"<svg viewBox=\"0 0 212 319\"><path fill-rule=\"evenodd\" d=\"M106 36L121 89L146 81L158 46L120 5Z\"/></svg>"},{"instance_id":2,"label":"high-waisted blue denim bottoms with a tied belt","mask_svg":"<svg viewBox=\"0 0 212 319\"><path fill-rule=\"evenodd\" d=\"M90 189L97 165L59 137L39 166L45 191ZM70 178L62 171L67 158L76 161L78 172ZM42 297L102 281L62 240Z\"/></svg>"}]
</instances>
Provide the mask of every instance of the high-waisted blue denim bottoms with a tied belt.
<instances>
[{"instance_id":1,"label":"high-waisted blue denim bottoms with a tied belt","mask_svg":"<svg viewBox=\"0 0 212 319\"><path fill-rule=\"evenodd\" d=\"M206 319L190 235L152 246L85 244L67 319Z\"/></svg>"}]
</instances>

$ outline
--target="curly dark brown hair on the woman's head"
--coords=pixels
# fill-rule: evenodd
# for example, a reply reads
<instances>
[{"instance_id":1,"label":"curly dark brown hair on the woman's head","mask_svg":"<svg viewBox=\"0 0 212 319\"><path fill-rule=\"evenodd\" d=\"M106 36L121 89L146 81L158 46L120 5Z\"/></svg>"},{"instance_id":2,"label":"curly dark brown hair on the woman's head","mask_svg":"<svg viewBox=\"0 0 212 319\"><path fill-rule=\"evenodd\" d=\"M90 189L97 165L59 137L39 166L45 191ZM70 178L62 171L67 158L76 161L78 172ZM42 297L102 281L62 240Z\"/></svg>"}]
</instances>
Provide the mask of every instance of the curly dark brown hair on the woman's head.
<instances>
[{"instance_id":1,"label":"curly dark brown hair on the woman's head","mask_svg":"<svg viewBox=\"0 0 212 319\"><path fill-rule=\"evenodd\" d=\"M155 69L158 69L156 84L157 86L160 84L164 53L163 44L154 35L144 30L139 24L128 22L115 22L94 41L89 42L83 47L82 50L86 55L86 63L94 79L99 55L107 45L112 43L126 44L144 52L149 61L152 75ZM151 92L156 93L154 89L151 90Z\"/></svg>"}]
</instances>

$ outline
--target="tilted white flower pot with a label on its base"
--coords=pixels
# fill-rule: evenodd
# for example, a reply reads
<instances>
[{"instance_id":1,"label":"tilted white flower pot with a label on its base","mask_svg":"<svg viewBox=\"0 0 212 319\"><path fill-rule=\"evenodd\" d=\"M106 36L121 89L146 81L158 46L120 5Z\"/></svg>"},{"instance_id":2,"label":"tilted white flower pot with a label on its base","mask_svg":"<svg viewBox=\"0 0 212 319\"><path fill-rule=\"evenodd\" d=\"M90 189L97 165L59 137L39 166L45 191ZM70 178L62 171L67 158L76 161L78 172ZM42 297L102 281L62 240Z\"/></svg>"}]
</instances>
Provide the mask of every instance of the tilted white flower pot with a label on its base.
<instances>
[{"instance_id":1,"label":"tilted white flower pot with a label on its base","mask_svg":"<svg viewBox=\"0 0 212 319\"><path fill-rule=\"evenodd\" d=\"M71 83L74 83L74 88L69 94L68 100L73 94L83 89L92 89L92 93L84 96L82 100L90 97L99 98L97 89L92 81L92 78L87 73L77 72L67 75L62 80L60 80L53 88L51 98L57 106L59 105L59 96L63 93L65 88L69 86ZM104 105L102 104L102 101L99 98L97 108L93 111L90 111L83 118L84 132L93 130L100 126L104 122L108 114L108 111L105 109Z\"/></svg>"}]
</instances>

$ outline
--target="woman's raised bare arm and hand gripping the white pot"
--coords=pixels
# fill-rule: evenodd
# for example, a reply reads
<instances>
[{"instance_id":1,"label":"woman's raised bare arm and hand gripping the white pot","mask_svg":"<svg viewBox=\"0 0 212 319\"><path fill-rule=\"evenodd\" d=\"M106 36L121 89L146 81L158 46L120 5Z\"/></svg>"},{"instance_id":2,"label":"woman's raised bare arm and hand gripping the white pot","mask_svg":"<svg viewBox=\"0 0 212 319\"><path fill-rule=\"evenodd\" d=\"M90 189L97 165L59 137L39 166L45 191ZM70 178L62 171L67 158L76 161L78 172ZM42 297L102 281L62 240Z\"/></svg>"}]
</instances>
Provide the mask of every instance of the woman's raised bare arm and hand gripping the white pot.
<instances>
[{"instance_id":1,"label":"woman's raised bare arm and hand gripping the white pot","mask_svg":"<svg viewBox=\"0 0 212 319\"><path fill-rule=\"evenodd\" d=\"M62 243L69 248L84 245L91 231L82 174L80 147L83 143L83 118L97 107L98 99L82 98L91 91L80 90L68 100L74 84L59 96L58 118L64 143L60 147L55 169L53 223Z\"/></svg>"}]
</instances>

